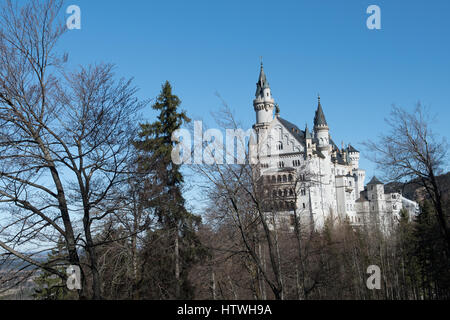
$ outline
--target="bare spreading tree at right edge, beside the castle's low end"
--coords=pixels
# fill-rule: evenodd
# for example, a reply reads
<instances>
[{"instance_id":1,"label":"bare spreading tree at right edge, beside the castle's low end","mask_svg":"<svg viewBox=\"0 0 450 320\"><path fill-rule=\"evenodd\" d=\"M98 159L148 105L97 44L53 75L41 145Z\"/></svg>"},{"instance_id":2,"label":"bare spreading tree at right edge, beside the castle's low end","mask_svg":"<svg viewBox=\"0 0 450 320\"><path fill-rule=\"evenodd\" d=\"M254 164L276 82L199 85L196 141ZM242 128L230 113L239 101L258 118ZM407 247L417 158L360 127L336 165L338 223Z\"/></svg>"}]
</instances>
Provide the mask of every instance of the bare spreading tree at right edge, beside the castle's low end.
<instances>
[{"instance_id":1,"label":"bare spreading tree at right edge, beside the castle's low end","mask_svg":"<svg viewBox=\"0 0 450 320\"><path fill-rule=\"evenodd\" d=\"M448 213L443 206L443 190L436 179L445 169L447 141L434 134L433 119L420 103L413 112L393 106L386 123L389 131L381 134L379 141L366 143L371 159L388 180L414 181L426 190L450 254Z\"/></svg>"}]
</instances>

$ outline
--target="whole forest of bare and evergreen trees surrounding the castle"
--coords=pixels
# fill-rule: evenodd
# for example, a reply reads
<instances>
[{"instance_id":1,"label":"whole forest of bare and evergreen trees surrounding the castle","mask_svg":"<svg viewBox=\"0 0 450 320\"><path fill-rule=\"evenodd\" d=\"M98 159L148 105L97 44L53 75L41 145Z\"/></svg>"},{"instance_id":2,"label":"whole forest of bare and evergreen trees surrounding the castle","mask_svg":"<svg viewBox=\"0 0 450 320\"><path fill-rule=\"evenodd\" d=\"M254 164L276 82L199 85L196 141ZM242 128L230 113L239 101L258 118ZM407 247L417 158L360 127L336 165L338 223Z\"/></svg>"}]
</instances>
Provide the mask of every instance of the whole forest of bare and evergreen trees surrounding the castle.
<instances>
[{"instance_id":1,"label":"whole forest of bare and evergreen trees surrounding the castle","mask_svg":"<svg viewBox=\"0 0 450 320\"><path fill-rule=\"evenodd\" d=\"M60 1L0 10L0 299L450 298L448 145L426 108L393 107L391 131L366 143L418 216L403 210L381 230L330 212L316 230L293 208L291 225L273 229L257 165L172 161L173 134L192 120L169 81L141 101L113 64L67 67ZM157 117L141 119L150 108ZM226 104L216 118L240 127ZM192 176L202 212L184 197ZM380 289L367 286L371 265ZM76 290L68 266L80 270Z\"/></svg>"}]
</instances>

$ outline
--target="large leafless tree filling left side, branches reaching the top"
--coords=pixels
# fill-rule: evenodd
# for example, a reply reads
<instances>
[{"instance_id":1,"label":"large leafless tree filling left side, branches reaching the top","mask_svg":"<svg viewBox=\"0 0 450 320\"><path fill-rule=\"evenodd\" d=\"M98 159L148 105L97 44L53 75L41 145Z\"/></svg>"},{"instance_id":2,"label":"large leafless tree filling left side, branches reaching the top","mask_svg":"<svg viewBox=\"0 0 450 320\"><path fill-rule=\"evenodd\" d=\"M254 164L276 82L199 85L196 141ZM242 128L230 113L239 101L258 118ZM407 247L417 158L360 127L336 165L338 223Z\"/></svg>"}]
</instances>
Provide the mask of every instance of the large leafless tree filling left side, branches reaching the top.
<instances>
[{"instance_id":1,"label":"large leafless tree filling left side, branches reaching the top","mask_svg":"<svg viewBox=\"0 0 450 320\"><path fill-rule=\"evenodd\" d=\"M64 278L30 253L62 236L67 262L89 271L99 299L95 228L120 209L114 195L126 182L142 104L131 81L114 80L111 65L65 71L67 56L55 52L65 30L60 8L56 0L7 1L1 11L0 247Z\"/></svg>"}]
</instances>

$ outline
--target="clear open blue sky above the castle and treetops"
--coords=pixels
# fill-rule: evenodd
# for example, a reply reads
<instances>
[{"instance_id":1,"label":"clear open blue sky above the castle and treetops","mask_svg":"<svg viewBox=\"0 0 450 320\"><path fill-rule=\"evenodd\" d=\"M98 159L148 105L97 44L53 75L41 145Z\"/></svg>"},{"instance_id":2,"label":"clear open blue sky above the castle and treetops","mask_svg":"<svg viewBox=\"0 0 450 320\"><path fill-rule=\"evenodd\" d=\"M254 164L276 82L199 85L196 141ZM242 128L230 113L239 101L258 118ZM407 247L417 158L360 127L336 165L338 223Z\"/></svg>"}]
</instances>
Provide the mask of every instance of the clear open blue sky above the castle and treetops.
<instances>
[{"instance_id":1,"label":"clear open blue sky above the castle and treetops","mask_svg":"<svg viewBox=\"0 0 450 320\"><path fill-rule=\"evenodd\" d=\"M259 57L281 116L303 127L322 97L331 134L358 147L385 130L393 103L420 100L450 129L450 1L106 1L70 0L82 29L61 49L73 65L117 64L134 77L140 97L153 98L169 80L193 119L211 122L221 106L247 127ZM368 30L366 9L381 8L381 30ZM68 15L67 15L68 16ZM149 121L154 114L147 110ZM361 166L371 177L374 166Z\"/></svg>"}]
</instances>

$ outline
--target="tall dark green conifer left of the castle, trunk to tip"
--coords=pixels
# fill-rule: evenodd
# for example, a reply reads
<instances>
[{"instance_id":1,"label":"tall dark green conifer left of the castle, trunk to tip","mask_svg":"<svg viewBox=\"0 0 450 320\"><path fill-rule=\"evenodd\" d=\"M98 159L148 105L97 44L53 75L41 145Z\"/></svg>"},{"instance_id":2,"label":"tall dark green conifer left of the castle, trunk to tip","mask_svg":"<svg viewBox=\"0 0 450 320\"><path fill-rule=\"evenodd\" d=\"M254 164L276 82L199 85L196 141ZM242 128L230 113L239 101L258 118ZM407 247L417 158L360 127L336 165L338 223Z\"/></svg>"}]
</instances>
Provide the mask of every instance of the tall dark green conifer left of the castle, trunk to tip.
<instances>
[{"instance_id":1,"label":"tall dark green conifer left of the castle, trunk to tip","mask_svg":"<svg viewBox=\"0 0 450 320\"><path fill-rule=\"evenodd\" d=\"M142 196L145 206L158 219L158 228L149 231L142 248L143 265L141 296L150 299L192 298L188 281L191 266L203 255L196 229L201 218L185 208L182 195L183 175L180 166L172 162L174 148L172 134L190 122L184 111L179 111L180 99L172 93L169 82L162 86L153 109L160 112L158 120L142 124L138 150L138 167L148 181ZM179 243L179 279L175 279L175 241ZM177 296L177 285L178 295Z\"/></svg>"}]
</instances>

